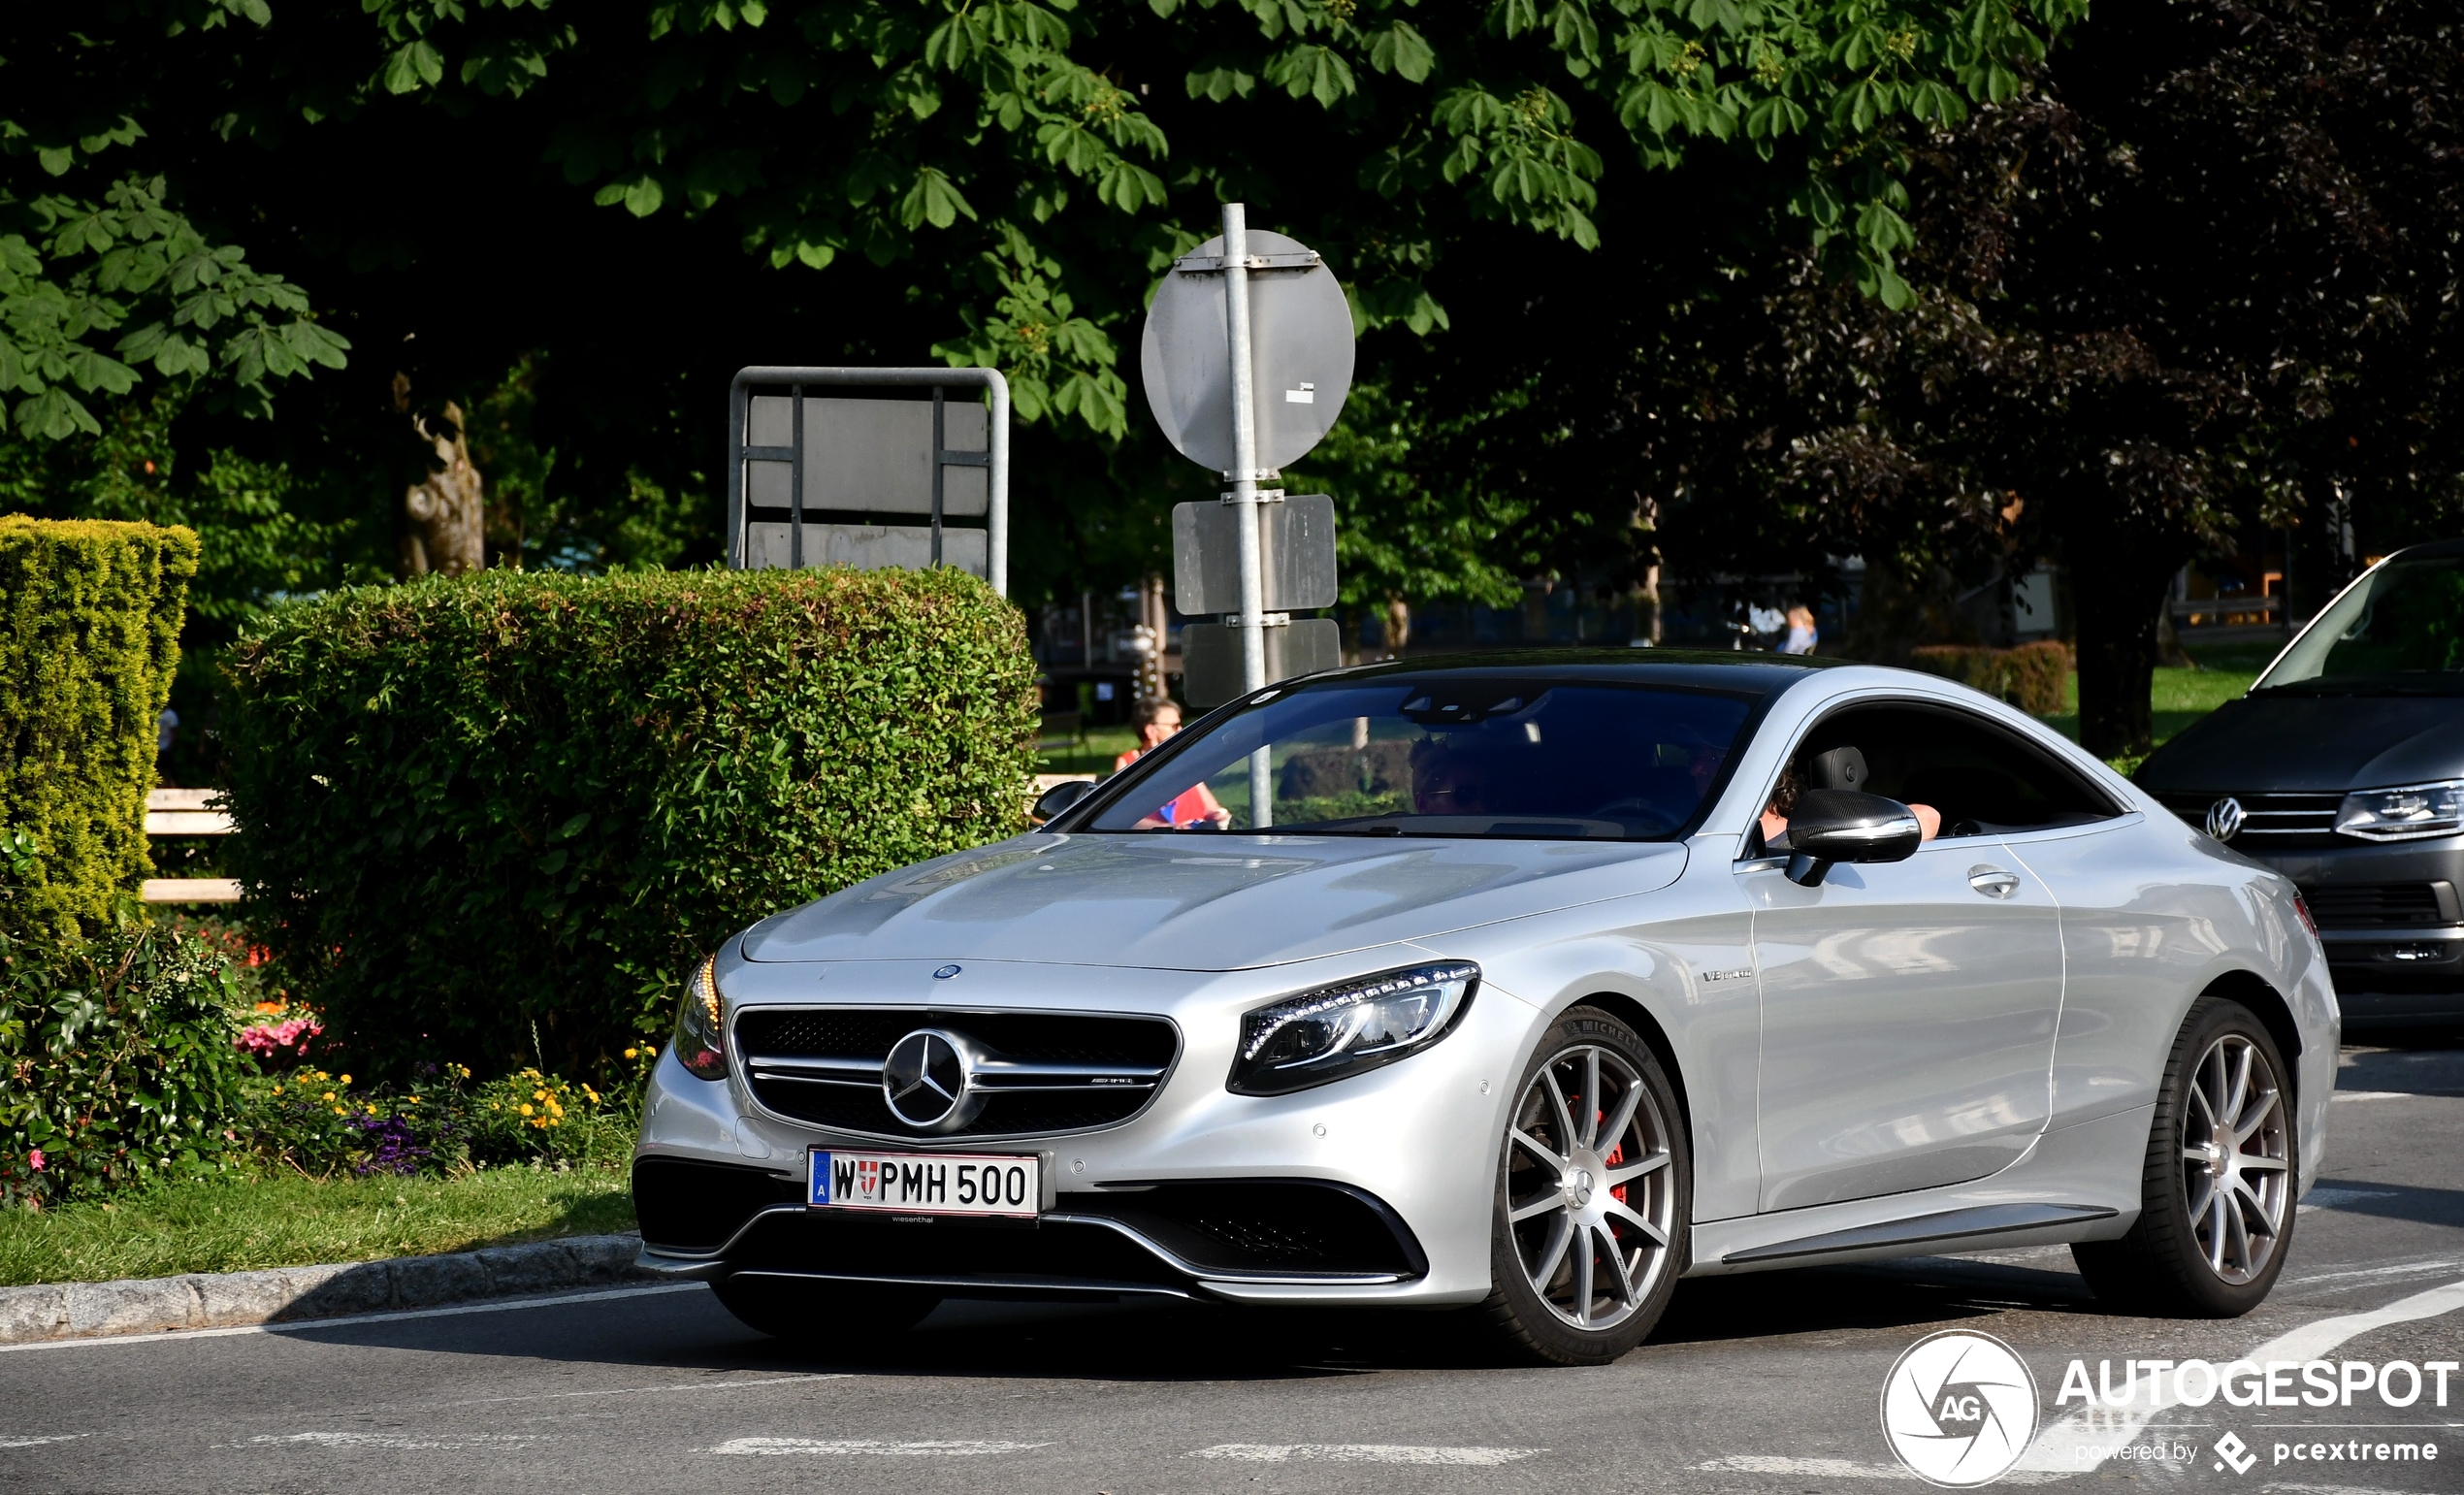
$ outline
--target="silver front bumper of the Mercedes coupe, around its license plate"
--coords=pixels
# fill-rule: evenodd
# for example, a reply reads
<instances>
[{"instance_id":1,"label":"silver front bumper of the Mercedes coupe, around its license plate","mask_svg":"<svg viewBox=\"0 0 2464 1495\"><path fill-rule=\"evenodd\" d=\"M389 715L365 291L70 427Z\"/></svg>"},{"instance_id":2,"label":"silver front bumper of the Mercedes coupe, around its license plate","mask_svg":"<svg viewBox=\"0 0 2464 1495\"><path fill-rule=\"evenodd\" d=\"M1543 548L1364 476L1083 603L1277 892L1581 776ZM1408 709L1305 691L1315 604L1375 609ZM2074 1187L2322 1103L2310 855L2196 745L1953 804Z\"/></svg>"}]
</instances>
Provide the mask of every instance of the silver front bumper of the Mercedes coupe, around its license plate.
<instances>
[{"instance_id":1,"label":"silver front bumper of the Mercedes coupe, around its license plate","mask_svg":"<svg viewBox=\"0 0 2464 1495\"><path fill-rule=\"evenodd\" d=\"M1400 1064L1291 1096L1225 1089L1239 1012L1372 963L1432 953L1392 956L1244 973L983 961L966 968L968 993L934 985L929 961L833 965L825 978L833 1002L899 1005L922 993L986 1010L1148 1012L1180 1027L1183 1052L1153 1103L1119 1126L909 1143L939 1153L1040 1153L1055 1185L1035 1224L811 1212L808 1148L880 1150L882 1140L764 1111L742 1071L702 1081L663 1052L636 1148L636 1167L650 1172L638 1180L670 1165L722 1172L678 1190L638 1182L641 1263L680 1278L761 1271L983 1298L1476 1303L1488 1293L1496 1138L1530 1042L1528 1005L1483 985L1456 1032ZM813 968L722 973L732 1005L761 1002L764 983L779 1002L813 1002ZM663 1192L685 1204L660 1204Z\"/></svg>"}]
</instances>

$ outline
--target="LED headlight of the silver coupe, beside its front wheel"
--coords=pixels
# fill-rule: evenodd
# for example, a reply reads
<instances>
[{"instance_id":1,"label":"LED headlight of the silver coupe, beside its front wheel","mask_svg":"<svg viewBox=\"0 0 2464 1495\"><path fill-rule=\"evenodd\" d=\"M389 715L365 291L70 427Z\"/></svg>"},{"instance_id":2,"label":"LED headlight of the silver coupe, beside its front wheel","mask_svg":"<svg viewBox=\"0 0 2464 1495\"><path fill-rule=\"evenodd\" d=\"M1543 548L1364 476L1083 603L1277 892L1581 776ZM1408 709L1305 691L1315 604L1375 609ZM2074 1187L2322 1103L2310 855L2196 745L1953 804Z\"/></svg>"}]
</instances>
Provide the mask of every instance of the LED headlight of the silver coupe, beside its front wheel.
<instances>
[{"instance_id":1,"label":"LED headlight of the silver coupe, beside its front wheel","mask_svg":"<svg viewBox=\"0 0 2464 1495\"><path fill-rule=\"evenodd\" d=\"M1230 1089L1289 1096L1392 1064L1454 1032L1481 968L1439 961L1363 975L1242 1015Z\"/></svg>"}]
</instances>

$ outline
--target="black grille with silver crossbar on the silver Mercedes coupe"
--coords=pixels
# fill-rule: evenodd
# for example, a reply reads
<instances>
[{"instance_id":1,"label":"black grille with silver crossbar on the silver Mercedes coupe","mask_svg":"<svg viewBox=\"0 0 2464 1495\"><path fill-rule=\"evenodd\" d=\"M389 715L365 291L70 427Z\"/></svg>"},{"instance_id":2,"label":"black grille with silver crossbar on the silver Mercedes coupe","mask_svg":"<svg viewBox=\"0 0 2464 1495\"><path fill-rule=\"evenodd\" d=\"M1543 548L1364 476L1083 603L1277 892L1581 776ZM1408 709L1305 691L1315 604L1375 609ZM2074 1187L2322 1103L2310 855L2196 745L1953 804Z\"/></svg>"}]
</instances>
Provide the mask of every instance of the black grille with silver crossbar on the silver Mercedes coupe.
<instances>
[{"instance_id":1,"label":"black grille with silver crossbar on the silver Mercedes coupe","mask_svg":"<svg viewBox=\"0 0 2464 1495\"><path fill-rule=\"evenodd\" d=\"M892 1044L926 1027L963 1039L983 1059L973 1074L981 1111L946 1130L909 1126L882 1094ZM1163 1017L1079 1012L749 1007L737 1015L737 1052L769 1111L917 1143L1119 1126L1163 1089L1180 1032Z\"/></svg>"}]
</instances>

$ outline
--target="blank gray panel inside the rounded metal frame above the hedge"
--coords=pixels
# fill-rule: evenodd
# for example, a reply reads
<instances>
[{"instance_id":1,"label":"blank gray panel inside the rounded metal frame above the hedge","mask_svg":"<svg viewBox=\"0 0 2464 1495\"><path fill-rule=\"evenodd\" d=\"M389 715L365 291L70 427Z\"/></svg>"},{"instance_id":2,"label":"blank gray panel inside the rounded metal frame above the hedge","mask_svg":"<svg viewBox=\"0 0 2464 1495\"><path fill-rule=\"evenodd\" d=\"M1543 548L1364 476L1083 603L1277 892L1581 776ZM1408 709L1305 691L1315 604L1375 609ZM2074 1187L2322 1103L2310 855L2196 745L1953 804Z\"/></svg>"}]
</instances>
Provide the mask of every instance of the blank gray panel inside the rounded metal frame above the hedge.
<instances>
[{"instance_id":1,"label":"blank gray panel inside the rounded metal frame above the hedge","mask_svg":"<svg viewBox=\"0 0 2464 1495\"><path fill-rule=\"evenodd\" d=\"M756 394L747 421L747 446L793 446L793 399ZM986 409L973 399L941 406L949 451L991 451ZM931 401L929 399L813 399L803 401L803 507L892 515L931 512ZM744 463L744 500L788 507L788 463ZM981 517L991 507L991 468L944 468L941 515Z\"/></svg>"}]
</instances>

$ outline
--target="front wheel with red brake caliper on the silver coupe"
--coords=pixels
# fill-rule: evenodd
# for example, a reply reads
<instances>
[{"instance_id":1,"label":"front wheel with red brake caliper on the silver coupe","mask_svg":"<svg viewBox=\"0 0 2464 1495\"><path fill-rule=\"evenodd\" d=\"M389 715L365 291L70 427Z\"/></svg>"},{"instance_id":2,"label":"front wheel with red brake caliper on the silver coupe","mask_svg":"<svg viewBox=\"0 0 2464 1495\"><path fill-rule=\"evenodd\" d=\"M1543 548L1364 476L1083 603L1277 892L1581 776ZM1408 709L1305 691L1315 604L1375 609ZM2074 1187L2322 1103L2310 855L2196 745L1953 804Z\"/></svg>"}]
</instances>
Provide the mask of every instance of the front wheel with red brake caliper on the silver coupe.
<instances>
[{"instance_id":1,"label":"front wheel with red brake caliper on the silver coupe","mask_svg":"<svg viewBox=\"0 0 2464 1495\"><path fill-rule=\"evenodd\" d=\"M1676 1086L1631 1027L1572 1007L1513 1096L1481 1315L1520 1360L1609 1364L1651 1335L1685 1271L1693 1150Z\"/></svg>"}]
</instances>

